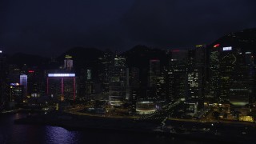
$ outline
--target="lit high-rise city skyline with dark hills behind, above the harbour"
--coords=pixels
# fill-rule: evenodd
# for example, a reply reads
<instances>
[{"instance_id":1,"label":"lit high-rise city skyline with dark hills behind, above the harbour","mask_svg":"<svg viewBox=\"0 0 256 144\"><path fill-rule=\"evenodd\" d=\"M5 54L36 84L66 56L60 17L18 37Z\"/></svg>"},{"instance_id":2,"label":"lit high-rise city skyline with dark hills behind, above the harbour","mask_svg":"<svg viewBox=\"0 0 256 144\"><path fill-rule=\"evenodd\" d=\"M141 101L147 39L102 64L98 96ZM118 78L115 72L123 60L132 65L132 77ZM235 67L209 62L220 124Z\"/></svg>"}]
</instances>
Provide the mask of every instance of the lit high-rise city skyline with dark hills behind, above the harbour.
<instances>
[{"instance_id":1,"label":"lit high-rise city skyline with dark hills behind, above the harbour","mask_svg":"<svg viewBox=\"0 0 256 144\"><path fill-rule=\"evenodd\" d=\"M226 41L187 50L137 46L123 54L76 49L42 66L9 63L10 57L0 54L0 114L15 116L8 125L15 128L34 124L61 126L67 133L90 128L164 134L165 139L178 134L191 141L253 142L256 51L251 37L239 36L248 32L255 30L228 37L249 47ZM85 54L94 56L87 61ZM22 112L26 118L19 117ZM231 132L239 137L230 138ZM39 133L45 134L34 134ZM8 134L6 141L15 141L17 136ZM40 141L52 137L58 134ZM34 141L25 139L20 142Z\"/></svg>"}]
</instances>

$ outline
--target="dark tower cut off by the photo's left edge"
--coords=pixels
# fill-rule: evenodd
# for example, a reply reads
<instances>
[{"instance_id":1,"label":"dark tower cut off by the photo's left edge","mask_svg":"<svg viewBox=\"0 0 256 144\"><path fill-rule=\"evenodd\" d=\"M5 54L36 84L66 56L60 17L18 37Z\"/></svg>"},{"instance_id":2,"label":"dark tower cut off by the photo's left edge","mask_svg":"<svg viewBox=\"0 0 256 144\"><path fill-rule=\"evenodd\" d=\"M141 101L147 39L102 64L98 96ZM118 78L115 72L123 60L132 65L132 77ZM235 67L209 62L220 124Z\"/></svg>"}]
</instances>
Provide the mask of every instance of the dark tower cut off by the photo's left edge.
<instances>
[{"instance_id":1,"label":"dark tower cut off by the photo's left edge","mask_svg":"<svg viewBox=\"0 0 256 144\"><path fill-rule=\"evenodd\" d=\"M4 102L6 102L6 57L0 50L0 110L2 109Z\"/></svg>"}]
</instances>

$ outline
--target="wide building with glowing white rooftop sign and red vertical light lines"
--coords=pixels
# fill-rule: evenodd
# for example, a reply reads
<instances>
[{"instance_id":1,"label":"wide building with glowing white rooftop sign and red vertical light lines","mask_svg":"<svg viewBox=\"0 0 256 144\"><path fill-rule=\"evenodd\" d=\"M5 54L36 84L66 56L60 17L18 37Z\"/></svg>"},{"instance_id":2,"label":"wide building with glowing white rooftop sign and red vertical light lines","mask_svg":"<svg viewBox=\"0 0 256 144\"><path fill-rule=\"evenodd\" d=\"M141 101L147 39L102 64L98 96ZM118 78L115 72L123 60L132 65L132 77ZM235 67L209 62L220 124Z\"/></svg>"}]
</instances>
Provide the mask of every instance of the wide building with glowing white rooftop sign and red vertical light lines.
<instances>
[{"instance_id":1,"label":"wide building with glowing white rooftop sign and red vertical light lines","mask_svg":"<svg viewBox=\"0 0 256 144\"><path fill-rule=\"evenodd\" d=\"M46 93L58 100L75 100L75 74L48 74Z\"/></svg>"}]
</instances>

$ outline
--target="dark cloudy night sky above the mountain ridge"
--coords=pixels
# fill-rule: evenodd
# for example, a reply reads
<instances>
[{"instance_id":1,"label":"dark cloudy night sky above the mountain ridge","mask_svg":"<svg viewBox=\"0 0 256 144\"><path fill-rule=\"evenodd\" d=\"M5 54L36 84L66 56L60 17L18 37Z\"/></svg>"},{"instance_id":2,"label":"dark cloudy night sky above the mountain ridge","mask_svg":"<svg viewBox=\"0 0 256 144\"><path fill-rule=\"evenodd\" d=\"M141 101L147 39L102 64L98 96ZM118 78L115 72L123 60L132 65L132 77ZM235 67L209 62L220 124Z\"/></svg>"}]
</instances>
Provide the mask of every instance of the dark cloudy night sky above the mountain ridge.
<instances>
[{"instance_id":1,"label":"dark cloudy night sky above the mountain ridge","mask_svg":"<svg viewBox=\"0 0 256 144\"><path fill-rule=\"evenodd\" d=\"M256 27L255 0L1 0L0 49L57 56L74 46L177 48Z\"/></svg>"}]
</instances>

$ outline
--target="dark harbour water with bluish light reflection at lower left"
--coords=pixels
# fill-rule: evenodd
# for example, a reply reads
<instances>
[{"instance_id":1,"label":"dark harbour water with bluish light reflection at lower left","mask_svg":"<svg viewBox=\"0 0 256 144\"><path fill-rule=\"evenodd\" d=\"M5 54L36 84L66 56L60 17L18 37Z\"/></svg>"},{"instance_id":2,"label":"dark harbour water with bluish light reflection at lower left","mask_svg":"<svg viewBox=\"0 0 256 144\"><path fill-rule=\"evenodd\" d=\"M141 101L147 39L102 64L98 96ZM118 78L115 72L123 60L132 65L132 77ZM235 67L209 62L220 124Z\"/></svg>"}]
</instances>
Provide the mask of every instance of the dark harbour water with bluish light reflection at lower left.
<instances>
[{"instance_id":1,"label":"dark harbour water with bluish light reflection at lower left","mask_svg":"<svg viewBox=\"0 0 256 144\"><path fill-rule=\"evenodd\" d=\"M2 143L205 143L181 138L167 138L148 134L131 134L107 131L69 131L58 126L17 125L14 119L26 114L0 115L0 144Z\"/></svg>"}]
</instances>

